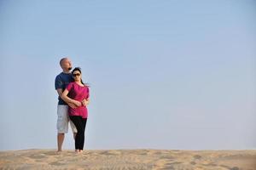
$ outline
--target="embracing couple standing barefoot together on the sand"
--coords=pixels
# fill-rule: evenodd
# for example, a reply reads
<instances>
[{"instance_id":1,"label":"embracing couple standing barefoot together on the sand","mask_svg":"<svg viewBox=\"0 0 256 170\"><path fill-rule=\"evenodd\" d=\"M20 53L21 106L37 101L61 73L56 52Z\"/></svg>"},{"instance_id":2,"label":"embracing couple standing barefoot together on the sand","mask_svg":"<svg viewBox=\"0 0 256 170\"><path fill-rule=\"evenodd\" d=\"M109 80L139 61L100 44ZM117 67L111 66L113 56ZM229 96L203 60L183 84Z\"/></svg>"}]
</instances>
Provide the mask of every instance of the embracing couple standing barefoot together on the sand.
<instances>
[{"instance_id":1,"label":"embracing couple standing barefoot together on the sand","mask_svg":"<svg viewBox=\"0 0 256 170\"><path fill-rule=\"evenodd\" d=\"M81 152L84 149L89 87L82 81L82 72L79 67L75 67L70 72L72 70L70 59L61 59L60 65L63 71L55 77L55 89L59 94L57 107L58 151L61 151L70 120L73 138L75 139L75 150L76 152Z\"/></svg>"}]
</instances>

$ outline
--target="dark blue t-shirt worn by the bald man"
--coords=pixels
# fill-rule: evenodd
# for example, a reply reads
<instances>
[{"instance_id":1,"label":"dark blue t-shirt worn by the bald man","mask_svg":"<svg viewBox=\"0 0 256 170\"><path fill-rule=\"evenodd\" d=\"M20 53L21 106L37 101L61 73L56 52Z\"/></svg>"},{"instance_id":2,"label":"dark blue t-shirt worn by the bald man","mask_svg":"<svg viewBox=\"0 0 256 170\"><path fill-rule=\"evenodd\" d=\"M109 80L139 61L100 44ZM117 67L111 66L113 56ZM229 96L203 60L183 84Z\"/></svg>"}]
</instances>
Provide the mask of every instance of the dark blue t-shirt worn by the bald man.
<instances>
[{"instance_id":1,"label":"dark blue t-shirt worn by the bald man","mask_svg":"<svg viewBox=\"0 0 256 170\"><path fill-rule=\"evenodd\" d=\"M58 76L55 77L55 89L61 88L62 91L65 90L65 88L67 87L67 84L69 84L69 82L72 82L73 78L71 73L64 73L61 72ZM59 96L59 102L58 105L67 105L67 103L61 99L61 97Z\"/></svg>"}]
</instances>

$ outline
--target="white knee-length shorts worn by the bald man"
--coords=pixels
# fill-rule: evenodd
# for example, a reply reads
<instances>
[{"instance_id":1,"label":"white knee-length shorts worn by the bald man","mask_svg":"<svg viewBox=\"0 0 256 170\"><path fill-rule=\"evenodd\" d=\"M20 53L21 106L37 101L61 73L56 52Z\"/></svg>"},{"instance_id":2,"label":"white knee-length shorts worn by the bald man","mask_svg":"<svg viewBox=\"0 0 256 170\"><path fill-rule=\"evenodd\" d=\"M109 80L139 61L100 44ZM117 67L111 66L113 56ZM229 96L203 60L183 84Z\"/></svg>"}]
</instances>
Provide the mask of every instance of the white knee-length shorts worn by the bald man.
<instances>
[{"instance_id":1,"label":"white knee-length shorts worn by the bald man","mask_svg":"<svg viewBox=\"0 0 256 170\"><path fill-rule=\"evenodd\" d=\"M68 105L58 105L57 107L57 130L58 133L67 133L68 132L68 122L70 122L70 127L73 133L77 133L77 128L74 126L72 121L69 121L68 116Z\"/></svg>"}]
</instances>

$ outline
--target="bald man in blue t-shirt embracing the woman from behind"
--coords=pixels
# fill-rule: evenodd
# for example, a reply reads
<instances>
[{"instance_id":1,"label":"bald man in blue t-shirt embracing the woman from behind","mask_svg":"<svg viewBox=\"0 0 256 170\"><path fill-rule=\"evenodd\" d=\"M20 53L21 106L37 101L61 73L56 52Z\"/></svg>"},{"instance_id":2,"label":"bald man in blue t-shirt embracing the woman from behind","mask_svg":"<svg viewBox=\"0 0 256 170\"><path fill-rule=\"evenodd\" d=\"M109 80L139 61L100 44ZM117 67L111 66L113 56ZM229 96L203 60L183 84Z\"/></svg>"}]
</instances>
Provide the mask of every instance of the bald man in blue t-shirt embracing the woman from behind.
<instances>
[{"instance_id":1,"label":"bald man in blue t-shirt embracing the woman from behind","mask_svg":"<svg viewBox=\"0 0 256 170\"><path fill-rule=\"evenodd\" d=\"M58 102L58 107L57 107L57 115L58 115L58 120L57 120L57 143L58 143L58 151L61 151L62 144L65 138L65 133L68 131L68 122L69 122L69 117L68 117L68 105L72 108L76 108L77 105L74 105L72 103L66 103L63 99L61 99L61 94L67 87L67 84L69 82L73 81L73 77L71 75L71 70L72 70L72 64L70 59L68 58L63 58L60 60L60 65L62 68L62 72L55 77L55 89L57 90L57 93L59 94L59 102ZM82 101L85 105L85 101ZM73 138L75 139L77 129L74 126L73 122L70 122L70 126L73 131Z\"/></svg>"}]
</instances>

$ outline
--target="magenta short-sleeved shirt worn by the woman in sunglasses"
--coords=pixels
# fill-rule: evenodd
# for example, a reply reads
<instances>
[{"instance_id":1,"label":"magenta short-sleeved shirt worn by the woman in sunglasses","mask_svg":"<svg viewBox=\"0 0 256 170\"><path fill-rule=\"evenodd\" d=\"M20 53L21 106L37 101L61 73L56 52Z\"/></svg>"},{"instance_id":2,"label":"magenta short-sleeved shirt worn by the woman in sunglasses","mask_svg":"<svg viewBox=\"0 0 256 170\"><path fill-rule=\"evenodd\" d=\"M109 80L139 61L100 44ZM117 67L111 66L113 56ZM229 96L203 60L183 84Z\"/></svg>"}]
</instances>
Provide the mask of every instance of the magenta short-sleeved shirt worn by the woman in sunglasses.
<instances>
[{"instance_id":1,"label":"magenta short-sleeved shirt worn by the woman in sunglasses","mask_svg":"<svg viewBox=\"0 0 256 170\"><path fill-rule=\"evenodd\" d=\"M82 102L84 99L89 98L89 88L87 86L80 86L76 82L70 82L67 85L68 97L71 99ZM81 105L75 109L68 107L69 116L82 116L83 118L88 117L88 111L86 105Z\"/></svg>"}]
</instances>

